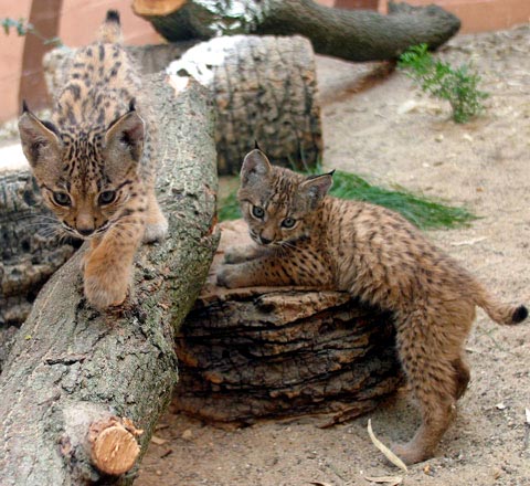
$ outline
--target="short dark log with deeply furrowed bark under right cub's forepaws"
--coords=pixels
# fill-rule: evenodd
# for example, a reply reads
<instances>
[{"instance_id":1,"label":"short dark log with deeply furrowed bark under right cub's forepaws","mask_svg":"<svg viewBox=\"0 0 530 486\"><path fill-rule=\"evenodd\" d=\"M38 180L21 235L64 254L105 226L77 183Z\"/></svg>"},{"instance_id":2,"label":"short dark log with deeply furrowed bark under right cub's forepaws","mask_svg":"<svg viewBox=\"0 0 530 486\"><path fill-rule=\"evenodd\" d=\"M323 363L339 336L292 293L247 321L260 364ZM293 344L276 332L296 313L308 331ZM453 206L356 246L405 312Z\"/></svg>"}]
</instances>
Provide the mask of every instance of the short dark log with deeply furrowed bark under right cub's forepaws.
<instances>
[{"instance_id":1,"label":"short dark log with deeply furrowed bark under right cub's forepaws","mask_svg":"<svg viewBox=\"0 0 530 486\"><path fill-rule=\"evenodd\" d=\"M173 406L239 423L326 413L328 425L393 393L401 368L388 314L346 293L213 284L223 249L245 242L245 224L223 223L209 284L177 335Z\"/></svg>"}]
</instances>

